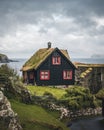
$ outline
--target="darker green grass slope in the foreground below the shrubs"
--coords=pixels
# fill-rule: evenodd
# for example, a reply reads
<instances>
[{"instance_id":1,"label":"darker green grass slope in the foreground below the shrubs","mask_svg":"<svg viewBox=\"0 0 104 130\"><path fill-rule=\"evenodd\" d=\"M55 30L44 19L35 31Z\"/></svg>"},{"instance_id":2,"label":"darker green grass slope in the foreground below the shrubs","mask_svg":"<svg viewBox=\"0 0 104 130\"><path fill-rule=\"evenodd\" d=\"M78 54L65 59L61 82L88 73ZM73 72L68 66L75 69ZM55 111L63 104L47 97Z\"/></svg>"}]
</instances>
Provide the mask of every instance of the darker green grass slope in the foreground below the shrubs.
<instances>
[{"instance_id":1,"label":"darker green grass slope in the foreground below the shrubs","mask_svg":"<svg viewBox=\"0 0 104 130\"><path fill-rule=\"evenodd\" d=\"M55 130L60 127L69 130L54 112L49 112L37 105L26 105L15 100L11 100L12 109L18 113L23 130Z\"/></svg>"}]
</instances>

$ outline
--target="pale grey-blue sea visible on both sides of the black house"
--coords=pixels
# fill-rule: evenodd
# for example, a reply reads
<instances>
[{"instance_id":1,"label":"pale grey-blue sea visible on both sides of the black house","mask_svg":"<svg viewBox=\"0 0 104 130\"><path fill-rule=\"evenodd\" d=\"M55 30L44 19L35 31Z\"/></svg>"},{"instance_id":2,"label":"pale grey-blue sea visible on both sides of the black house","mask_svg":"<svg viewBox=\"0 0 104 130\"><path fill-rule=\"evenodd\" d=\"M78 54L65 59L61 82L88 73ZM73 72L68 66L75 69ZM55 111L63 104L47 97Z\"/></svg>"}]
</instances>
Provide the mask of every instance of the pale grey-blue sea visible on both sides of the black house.
<instances>
[{"instance_id":1,"label":"pale grey-blue sea visible on both sides of the black house","mask_svg":"<svg viewBox=\"0 0 104 130\"><path fill-rule=\"evenodd\" d=\"M12 59L16 62L7 63L8 66L15 69L19 76L22 76L22 72L20 71L24 63L28 60L26 58L15 58ZM89 64L104 64L104 58L71 58L72 62L81 62L81 63L89 63ZM4 63L0 63L0 66Z\"/></svg>"}]
</instances>

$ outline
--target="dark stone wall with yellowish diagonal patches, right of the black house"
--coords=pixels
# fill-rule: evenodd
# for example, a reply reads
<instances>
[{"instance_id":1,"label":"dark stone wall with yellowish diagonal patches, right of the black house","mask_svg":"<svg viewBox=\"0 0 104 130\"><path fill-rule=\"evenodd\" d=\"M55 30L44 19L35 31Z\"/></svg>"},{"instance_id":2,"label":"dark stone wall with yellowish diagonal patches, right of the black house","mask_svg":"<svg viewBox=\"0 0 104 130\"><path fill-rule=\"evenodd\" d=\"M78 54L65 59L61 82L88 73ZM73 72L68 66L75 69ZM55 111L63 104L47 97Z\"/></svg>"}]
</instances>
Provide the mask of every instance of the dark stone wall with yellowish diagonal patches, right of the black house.
<instances>
[{"instance_id":1,"label":"dark stone wall with yellowish diagonal patches, right of the black house","mask_svg":"<svg viewBox=\"0 0 104 130\"><path fill-rule=\"evenodd\" d=\"M75 81L77 85L88 87L92 93L97 93L104 87L104 67L78 66Z\"/></svg>"}]
</instances>

